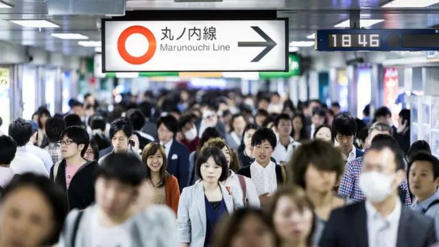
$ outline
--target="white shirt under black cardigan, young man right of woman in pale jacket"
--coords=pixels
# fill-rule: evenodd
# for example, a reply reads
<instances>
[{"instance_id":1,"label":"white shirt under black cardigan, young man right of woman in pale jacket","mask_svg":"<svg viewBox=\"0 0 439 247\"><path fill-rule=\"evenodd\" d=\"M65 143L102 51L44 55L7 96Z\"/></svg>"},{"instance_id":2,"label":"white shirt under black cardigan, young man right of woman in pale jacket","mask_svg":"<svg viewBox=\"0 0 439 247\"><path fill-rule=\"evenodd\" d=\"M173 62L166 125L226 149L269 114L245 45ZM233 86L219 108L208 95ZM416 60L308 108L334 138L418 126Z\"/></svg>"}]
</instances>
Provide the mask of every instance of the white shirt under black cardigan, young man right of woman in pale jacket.
<instances>
[{"instance_id":1,"label":"white shirt under black cardigan, young man right of woman in pale jacket","mask_svg":"<svg viewBox=\"0 0 439 247\"><path fill-rule=\"evenodd\" d=\"M272 195L277 190L276 164L272 161L264 168L256 161L250 165L250 175L258 196L264 193Z\"/></svg>"}]
</instances>

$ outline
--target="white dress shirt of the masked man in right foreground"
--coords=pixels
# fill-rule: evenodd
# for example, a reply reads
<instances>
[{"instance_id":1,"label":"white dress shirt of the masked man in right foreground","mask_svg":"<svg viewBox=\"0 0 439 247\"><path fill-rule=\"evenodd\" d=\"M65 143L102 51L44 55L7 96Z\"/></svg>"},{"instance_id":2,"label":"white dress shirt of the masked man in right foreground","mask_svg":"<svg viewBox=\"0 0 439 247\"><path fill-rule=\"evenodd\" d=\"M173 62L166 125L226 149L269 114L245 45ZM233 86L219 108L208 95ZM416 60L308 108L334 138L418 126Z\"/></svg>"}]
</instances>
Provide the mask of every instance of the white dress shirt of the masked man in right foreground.
<instances>
[{"instance_id":1,"label":"white dress shirt of the masked man in right foreground","mask_svg":"<svg viewBox=\"0 0 439 247\"><path fill-rule=\"evenodd\" d=\"M401 217L401 202L396 199L396 206L390 215L386 219L381 217L377 209L373 207L370 201L366 200L366 214L367 214L367 226L368 226L368 242L369 246L376 246L377 235L380 229L389 224L383 233L385 237L381 238L381 242L385 242L385 246L377 247L396 247L396 239L398 237L399 218Z\"/></svg>"}]
</instances>

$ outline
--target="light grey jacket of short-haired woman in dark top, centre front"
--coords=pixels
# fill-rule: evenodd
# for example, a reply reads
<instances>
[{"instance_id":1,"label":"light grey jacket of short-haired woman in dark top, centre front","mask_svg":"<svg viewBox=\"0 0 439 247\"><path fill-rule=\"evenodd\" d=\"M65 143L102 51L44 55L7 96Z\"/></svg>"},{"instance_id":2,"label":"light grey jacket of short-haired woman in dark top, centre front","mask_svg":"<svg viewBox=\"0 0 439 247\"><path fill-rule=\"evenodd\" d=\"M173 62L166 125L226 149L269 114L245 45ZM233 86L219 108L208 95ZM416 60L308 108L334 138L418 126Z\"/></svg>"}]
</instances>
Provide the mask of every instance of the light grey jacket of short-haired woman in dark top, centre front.
<instances>
[{"instance_id":1,"label":"light grey jacket of short-haired woman in dark top, centre front","mask_svg":"<svg viewBox=\"0 0 439 247\"><path fill-rule=\"evenodd\" d=\"M220 185L222 197L226 203L228 213L234 209L244 207L242 202L235 200L228 194L224 185ZM230 187L230 192L237 194L238 191ZM204 246L206 237L206 206L204 202L203 183L186 187L180 195L177 213L177 239L180 243L188 243L189 246Z\"/></svg>"}]
</instances>

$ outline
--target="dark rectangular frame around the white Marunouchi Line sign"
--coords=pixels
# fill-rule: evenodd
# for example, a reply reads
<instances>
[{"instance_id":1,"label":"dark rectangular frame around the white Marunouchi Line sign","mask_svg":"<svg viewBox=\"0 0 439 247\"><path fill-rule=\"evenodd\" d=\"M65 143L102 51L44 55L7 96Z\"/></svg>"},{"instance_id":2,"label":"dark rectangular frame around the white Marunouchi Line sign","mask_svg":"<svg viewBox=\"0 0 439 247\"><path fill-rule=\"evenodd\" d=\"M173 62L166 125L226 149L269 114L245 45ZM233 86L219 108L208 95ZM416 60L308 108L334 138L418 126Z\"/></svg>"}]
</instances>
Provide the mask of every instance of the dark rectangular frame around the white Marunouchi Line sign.
<instances>
[{"instance_id":1,"label":"dark rectangular frame around the white Marunouchi Line sign","mask_svg":"<svg viewBox=\"0 0 439 247\"><path fill-rule=\"evenodd\" d=\"M115 72L133 72L133 71L107 71L106 70L106 62L105 62L105 50L106 50L106 39L105 39L105 34L106 34L106 23L107 22L114 22L114 21L149 21L149 22L161 22L161 21L167 21L167 22L178 22L178 21L283 21L285 23L285 69L279 69L279 70L273 70L273 69L267 69L267 70L260 70L258 72L288 72L289 71L289 19L287 17L281 17L281 18L264 18L264 19L258 19L258 18L248 18L248 19L239 19L239 18L230 18L230 19L216 19L216 18L212 18L212 19L197 19L197 18L192 18L192 19L187 19L187 18L182 18L182 19L156 19L156 20L150 20L150 19L102 19L102 73L115 73ZM250 28L250 27L249 27ZM242 40L242 41L246 41L246 40ZM263 48L263 47L261 47ZM261 49L261 53L264 51L265 49ZM252 59L252 58L249 58ZM239 71L228 71L228 70L178 70L178 71L137 71L139 73L155 73L155 72L169 72L169 73L175 73L175 72L254 72L255 70L239 70Z\"/></svg>"}]
</instances>

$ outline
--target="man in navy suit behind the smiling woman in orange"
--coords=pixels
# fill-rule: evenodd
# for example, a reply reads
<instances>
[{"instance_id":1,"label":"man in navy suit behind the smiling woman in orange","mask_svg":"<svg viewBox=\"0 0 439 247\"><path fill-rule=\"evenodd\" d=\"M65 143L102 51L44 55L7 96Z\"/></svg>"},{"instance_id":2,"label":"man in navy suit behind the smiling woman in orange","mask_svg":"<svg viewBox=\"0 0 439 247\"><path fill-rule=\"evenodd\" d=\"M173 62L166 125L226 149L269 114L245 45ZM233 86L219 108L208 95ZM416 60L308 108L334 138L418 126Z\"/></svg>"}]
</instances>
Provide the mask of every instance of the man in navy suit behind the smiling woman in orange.
<instances>
[{"instance_id":1,"label":"man in navy suit behind the smiling woman in orange","mask_svg":"<svg viewBox=\"0 0 439 247\"><path fill-rule=\"evenodd\" d=\"M176 176L180 191L189 186L189 149L176 141L178 121L172 115L161 117L157 121L158 141L165 149L167 172Z\"/></svg>"}]
</instances>

